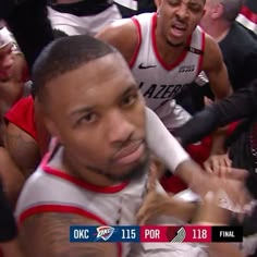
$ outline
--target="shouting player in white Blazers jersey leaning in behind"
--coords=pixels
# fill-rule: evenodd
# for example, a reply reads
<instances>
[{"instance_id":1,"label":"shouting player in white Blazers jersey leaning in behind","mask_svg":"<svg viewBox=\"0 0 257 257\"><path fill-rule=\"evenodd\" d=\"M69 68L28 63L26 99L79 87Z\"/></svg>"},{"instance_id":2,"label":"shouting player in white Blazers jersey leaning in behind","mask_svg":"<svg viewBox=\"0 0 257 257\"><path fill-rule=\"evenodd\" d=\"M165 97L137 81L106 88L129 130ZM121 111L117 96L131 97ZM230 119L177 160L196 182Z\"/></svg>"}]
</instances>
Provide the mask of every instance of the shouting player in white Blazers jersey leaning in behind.
<instances>
[{"instance_id":1,"label":"shouting player in white Blazers jersey leaning in behind","mask_svg":"<svg viewBox=\"0 0 257 257\"><path fill-rule=\"evenodd\" d=\"M130 63L145 97L173 131L189 114L172 100L200 71L219 98L232 93L219 47L197 25L205 0L157 0L157 13L118 21L97 35L117 47Z\"/></svg>"}]
</instances>

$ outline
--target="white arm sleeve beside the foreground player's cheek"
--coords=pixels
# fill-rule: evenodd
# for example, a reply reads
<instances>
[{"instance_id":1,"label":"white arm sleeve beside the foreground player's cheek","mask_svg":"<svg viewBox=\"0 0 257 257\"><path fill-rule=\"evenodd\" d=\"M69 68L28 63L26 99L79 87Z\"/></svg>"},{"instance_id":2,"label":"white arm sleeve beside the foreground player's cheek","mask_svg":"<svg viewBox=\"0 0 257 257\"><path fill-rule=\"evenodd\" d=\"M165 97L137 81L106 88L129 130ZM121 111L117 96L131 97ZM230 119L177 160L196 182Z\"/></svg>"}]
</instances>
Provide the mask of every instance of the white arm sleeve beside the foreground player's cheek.
<instances>
[{"instance_id":1,"label":"white arm sleeve beside the foreground player's cheek","mask_svg":"<svg viewBox=\"0 0 257 257\"><path fill-rule=\"evenodd\" d=\"M146 108L146 134L150 150L164 162L170 171L174 172L179 164L189 159L184 148L149 108Z\"/></svg>"}]
</instances>

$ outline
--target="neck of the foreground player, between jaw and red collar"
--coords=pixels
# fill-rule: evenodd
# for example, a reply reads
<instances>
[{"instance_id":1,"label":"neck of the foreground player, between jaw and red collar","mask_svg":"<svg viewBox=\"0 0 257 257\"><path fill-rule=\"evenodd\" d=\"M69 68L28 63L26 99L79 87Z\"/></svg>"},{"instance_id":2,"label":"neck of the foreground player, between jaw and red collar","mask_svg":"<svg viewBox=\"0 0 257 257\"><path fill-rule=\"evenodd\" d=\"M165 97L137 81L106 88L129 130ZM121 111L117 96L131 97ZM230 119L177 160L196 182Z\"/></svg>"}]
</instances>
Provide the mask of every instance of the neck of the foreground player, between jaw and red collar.
<instances>
[{"instance_id":1,"label":"neck of the foreground player, between jaw and red collar","mask_svg":"<svg viewBox=\"0 0 257 257\"><path fill-rule=\"evenodd\" d=\"M75 176L84 182L87 182L96 186L112 186L115 185L113 181L108 180L105 175L98 174L73 158L65 149L61 146L56 155L52 157L49 164L52 168L62 170L63 172Z\"/></svg>"}]
</instances>

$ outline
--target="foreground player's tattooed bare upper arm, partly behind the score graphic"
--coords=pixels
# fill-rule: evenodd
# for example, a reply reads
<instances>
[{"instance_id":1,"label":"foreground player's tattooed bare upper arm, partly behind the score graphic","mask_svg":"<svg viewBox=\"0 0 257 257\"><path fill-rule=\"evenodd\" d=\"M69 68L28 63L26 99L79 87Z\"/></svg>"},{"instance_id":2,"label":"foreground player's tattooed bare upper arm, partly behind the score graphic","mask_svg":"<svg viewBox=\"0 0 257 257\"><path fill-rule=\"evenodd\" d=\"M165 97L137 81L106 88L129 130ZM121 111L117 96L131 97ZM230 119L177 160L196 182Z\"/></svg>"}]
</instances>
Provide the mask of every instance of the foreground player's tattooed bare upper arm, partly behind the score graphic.
<instances>
[{"instance_id":1,"label":"foreground player's tattooed bare upper arm, partly behind the score graphic","mask_svg":"<svg viewBox=\"0 0 257 257\"><path fill-rule=\"evenodd\" d=\"M70 243L70 225L97 225L73 213L46 212L27 218L20 240L27 257L117 257L112 243Z\"/></svg>"}]
</instances>

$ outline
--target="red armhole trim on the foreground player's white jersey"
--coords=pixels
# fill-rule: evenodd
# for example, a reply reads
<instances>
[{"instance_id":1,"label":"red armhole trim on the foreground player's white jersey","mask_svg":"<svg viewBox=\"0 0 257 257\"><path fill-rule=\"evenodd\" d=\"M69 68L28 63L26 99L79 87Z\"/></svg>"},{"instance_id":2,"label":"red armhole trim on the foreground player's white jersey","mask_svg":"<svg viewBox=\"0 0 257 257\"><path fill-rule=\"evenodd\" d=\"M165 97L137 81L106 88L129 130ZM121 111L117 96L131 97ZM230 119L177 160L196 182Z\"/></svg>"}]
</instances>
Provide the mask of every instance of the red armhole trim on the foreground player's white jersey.
<instances>
[{"instance_id":1,"label":"red armhole trim on the foreground player's white jersey","mask_svg":"<svg viewBox=\"0 0 257 257\"><path fill-rule=\"evenodd\" d=\"M24 210L19 217L19 224L21 225L24 220L30 216L42 213L42 212L61 212L61 213L74 213L78 216L83 216L90 220L95 220L102 225L108 225L108 223L102 220L100 217L91 213L90 211L81 209L78 207L73 206L62 206L62 205L41 205L41 206L34 206L29 209ZM117 243L118 247L118 256L122 256L122 244Z\"/></svg>"}]
</instances>

